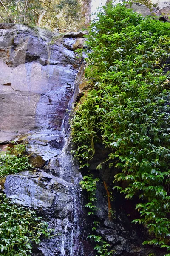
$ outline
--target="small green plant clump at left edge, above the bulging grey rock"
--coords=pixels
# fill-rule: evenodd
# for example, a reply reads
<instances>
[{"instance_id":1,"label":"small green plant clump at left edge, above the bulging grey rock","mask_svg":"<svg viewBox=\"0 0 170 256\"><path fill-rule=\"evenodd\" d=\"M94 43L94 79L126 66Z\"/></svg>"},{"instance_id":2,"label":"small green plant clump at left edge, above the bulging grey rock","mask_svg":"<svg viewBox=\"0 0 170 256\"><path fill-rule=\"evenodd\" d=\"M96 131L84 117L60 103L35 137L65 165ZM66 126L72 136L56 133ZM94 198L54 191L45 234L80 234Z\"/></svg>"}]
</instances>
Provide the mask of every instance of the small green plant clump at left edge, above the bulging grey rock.
<instances>
[{"instance_id":1,"label":"small green plant clump at left edge, above the bulging grey rock","mask_svg":"<svg viewBox=\"0 0 170 256\"><path fill-rule=\"evenodd\" d=\"M25 150L26 145L17 144L8 151L0 151L0 178L31 168L28 157L23 154Z\"/></svg>"}]
</instances>

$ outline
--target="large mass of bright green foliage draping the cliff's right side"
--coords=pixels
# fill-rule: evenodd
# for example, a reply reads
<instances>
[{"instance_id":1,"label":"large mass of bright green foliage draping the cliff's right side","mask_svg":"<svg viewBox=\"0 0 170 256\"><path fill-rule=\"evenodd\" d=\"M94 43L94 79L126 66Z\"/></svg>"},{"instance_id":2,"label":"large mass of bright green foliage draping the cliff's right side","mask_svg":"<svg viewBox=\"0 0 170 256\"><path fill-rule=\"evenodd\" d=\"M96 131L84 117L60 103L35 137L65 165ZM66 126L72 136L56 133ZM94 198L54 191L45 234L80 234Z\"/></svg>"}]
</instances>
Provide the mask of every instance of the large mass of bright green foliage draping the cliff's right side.
<instances>
[{"instance_id":1,"label":"large mass of bright green foliage draping the cliff's right side","mask_svg":"<svg viewBox=\"0 0 170 256\"><path fill-rule=\"evenodd\" d=\"M126 198L139 197L141 218L133 222L155 236L144 244L170 250L170 23L108 5L87 38L85 73L94 86L73 116L76 156L83 166L96 142L110 148L106 161L120 170L116 188Z\"/></svg>"}]
</instances>

